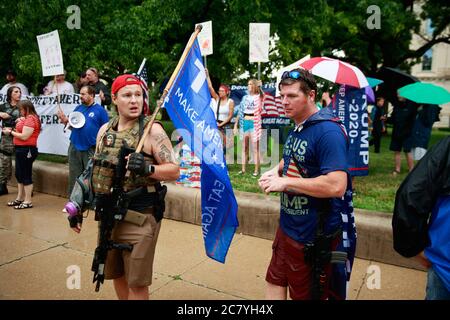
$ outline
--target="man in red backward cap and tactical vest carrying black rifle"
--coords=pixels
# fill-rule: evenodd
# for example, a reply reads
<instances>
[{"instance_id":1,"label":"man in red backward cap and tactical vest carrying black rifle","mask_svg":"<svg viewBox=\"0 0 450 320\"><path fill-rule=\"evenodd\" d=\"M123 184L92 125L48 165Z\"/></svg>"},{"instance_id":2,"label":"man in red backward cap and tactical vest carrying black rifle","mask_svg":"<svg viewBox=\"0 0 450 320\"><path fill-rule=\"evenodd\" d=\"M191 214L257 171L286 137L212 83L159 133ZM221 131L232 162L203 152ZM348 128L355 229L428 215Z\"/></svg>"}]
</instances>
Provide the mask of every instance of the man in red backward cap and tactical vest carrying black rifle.
<instances>
[{"instance_id":1,"label":"man in red backward cap and tactical vest carrying black rifle","mask_svg":"<svg viewBox=\"0 0 450 320\"><path fill-rule=\"evenodd\" d=\"M179 166L159 122L143 136L149 119L142 115L141 81L118 76L111 92L118 116L98 132L92 175L99 221L94 282L98 291L104 279L113 279L119 299L148 299L167 190L160 181L176 180ZM137 153L141 138L143 148ZM74 219L71 226L79 231L81 217Z\"/></svg>"}]
</instances>

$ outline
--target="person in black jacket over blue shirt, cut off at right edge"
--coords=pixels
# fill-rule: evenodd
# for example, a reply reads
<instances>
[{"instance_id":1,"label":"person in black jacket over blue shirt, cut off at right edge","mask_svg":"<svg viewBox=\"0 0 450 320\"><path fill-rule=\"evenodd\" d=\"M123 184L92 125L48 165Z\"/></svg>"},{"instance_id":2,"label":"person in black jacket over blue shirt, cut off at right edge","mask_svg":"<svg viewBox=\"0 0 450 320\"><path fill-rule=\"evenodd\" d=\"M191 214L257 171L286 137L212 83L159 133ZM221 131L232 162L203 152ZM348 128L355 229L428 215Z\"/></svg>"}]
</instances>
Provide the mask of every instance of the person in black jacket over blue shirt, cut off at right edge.
<instances>
[{"instance_id":1,"label":"person in black jacket over blue shirt, cut off at right edge","mask_svg":"<svg viewBox=\"0 0 450 320\"><path fill-rule=\"evenodd\" d=\"M450 137L435 144L400 185L394 249L428 269L427 300L450 300Z\"/></svg>"}]
</instances>

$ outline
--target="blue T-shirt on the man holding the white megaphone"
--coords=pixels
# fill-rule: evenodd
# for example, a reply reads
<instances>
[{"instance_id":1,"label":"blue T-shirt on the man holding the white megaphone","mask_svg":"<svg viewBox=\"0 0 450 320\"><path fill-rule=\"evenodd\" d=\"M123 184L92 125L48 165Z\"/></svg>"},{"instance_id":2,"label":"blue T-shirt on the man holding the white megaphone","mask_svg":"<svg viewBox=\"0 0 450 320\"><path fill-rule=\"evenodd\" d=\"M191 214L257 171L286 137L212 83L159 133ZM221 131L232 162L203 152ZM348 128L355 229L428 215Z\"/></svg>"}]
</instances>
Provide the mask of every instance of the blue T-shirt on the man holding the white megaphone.
<instances>
[{"instance_id":1,"label":"blue T-shirt on the man holding the white megaphone","mask_svg":"<svg viewBox=\"0 0 450 320\"><path fill-rule=\"evenodd\" d=\"M81 112L86 122L81 128L72 128L70 142L78 151L86 151L95 146L98 130L109 121L108 113L97 103L90 107L80 104L75 111Z\"/></svg>"}]
</instances>

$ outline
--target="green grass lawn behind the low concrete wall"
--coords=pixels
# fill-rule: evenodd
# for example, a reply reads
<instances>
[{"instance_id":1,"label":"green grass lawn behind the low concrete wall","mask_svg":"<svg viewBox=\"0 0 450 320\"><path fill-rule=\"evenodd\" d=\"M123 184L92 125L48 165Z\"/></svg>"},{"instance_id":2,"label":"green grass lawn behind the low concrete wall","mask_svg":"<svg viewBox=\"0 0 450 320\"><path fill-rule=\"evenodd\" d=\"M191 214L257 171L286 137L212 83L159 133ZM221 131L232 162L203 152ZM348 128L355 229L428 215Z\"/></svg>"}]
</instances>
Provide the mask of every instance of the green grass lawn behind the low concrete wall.
<instances>
[{"instance_id":1,"label":"green grass lawn behind the low concrete wall","mask_svg":"<svg viewBox=\"0 0 450 320\"><path fill-rule=\"evenodd\" d=\"M171 137L173 131L173 124L170 121L163 122L169 137ZM407 165L404 155L402 155L402 172L398 176L393 176L391 173L394 169L394 153L389 151L389 143L391 141L390 132L391 128L388 128L388 135L385 135L381 139L381 152L376 154L373 152L373 147L370 147L370 160L369 160L369 175L365 177L356 177L354 180L353 188L356 191L356 195L353 198L353 204L355 208L367 209L381 212L392 212L394 209L395 192L400 186L401 182L407 175ZM450 131L434 129L430 139L430 147L434 145L440 139L448 136ZM267 150L271 149L272 141L269 142ZM271 169L275 163L279 161L279 158L272 155L270 151L267 152L265 158L265 164L261 166L261 171L267 171ZM236 163L237 154L241 154L241 142L238 137L235 137L235 149L234 159L235 163L228 161L228 170L230 174L231 184L234 190L256 192L261 193L258 187L258 178L253 177L251 174L254 171L254 165L247 165L246 174L239 175L241 165ZM282 155L282 146L279 146L279 157ZM67 157L57 156L50 154L39 154L38 160L51 161L58 163L67 163ZM270 196L277 197L277 194L271 194Z\"/></svg>"}]
</instances>

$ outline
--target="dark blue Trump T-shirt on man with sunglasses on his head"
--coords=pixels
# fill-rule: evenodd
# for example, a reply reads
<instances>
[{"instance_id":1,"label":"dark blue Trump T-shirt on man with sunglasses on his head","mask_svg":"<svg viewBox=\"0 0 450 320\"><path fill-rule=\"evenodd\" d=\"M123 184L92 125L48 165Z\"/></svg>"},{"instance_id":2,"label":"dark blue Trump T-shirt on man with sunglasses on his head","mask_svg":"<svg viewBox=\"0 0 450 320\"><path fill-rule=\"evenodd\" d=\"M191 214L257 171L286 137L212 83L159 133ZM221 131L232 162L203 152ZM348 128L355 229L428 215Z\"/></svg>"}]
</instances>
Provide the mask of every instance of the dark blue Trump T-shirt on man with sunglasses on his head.
<instances>
[{"instance_id":1,"label":"dark blue Trump T-shirt on man with sunglasses on his head","mask_svg":"<svg viewBox=\"0 0 450 320\"><path fill-rule=\"evenodd\" d=\"M284 145L283 176L314 178L332 171L348 172L347 138L341 126L327 109L311 116L300 130L292 130ZM344 223L353 228L351 180L347 175L347 191L341 198L332 198L324 232L331 234ZM314 241L318 221L317 209L324 200L305 194L281 193L280 227L300 243ZM353 232L351 232L353 234ZM343 232L343 236L347 236ZM352 236L352 235L350 235ZM346 239L344 239L345 241Z\"/></svg>"}]
</instances>

